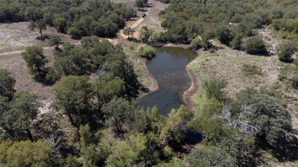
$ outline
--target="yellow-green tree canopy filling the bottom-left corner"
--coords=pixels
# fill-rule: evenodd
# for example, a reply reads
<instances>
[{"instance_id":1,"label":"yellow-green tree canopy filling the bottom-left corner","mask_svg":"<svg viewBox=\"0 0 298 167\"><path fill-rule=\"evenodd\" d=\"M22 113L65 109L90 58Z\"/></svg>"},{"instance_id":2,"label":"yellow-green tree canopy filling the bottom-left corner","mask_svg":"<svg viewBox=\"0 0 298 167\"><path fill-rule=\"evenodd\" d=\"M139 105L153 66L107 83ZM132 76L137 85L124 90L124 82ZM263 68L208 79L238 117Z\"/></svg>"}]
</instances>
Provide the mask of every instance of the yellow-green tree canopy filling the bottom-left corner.
<instances>
[{"instance_id":1,"label":"yellow-green tree canopy filling the bottom-left corner","mask_svg":"<svg viewBox=\"0 0 298 167\"><path fill-rule=\"evenodd\" d=\"M41 140L31 142L2 141L0 144L0 161L3 166L57 166L51 150Z\"/></svg>"}]
</instances>

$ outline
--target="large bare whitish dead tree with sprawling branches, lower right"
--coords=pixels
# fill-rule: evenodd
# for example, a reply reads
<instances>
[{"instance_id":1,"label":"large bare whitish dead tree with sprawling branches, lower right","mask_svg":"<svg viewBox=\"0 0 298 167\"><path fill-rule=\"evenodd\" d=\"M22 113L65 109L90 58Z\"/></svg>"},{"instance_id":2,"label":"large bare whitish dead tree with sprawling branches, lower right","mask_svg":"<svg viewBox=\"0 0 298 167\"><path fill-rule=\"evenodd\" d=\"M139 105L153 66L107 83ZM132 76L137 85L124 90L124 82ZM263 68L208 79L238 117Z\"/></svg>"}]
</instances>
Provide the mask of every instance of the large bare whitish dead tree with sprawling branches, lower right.
<instances>
[{"instance_id":1,"label":"large bare whitish dead tree with sprawling branches, lower right","mask_svg":"<svg viewBox=\"0 0 298 167\"><path fill-rule=\"evenodd\" d=\"M234 128L238 128L240 133L254 137L260 133L260 127L254 125L251 121L248 121L248 116L255 117L255 111L249 106L241 105L241 113L236 120L232 120L231 111L227 105L223 105L221 108L221 114L215 114L213 119L220 119L223 127L232 126Z\"/></svg>"}]
</instances>

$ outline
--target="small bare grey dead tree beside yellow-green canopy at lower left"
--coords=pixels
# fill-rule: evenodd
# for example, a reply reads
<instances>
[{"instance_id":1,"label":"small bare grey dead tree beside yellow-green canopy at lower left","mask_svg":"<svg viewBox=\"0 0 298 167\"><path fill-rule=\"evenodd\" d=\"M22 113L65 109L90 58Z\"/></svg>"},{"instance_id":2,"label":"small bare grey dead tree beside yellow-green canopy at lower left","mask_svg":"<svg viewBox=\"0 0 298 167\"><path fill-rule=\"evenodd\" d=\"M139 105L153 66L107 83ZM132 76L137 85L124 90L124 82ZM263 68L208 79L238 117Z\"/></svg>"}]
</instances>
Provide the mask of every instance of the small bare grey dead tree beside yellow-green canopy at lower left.
<instances>
[{"instance_id":1,"label":"small bare grey dead tree beside yellow-green canopy at lower left","mask_svg":"<svg viewBox=\"0 0 298 167\"><path fill-rule=\"evenodd\" d=\"M51 152L58 158L61 157L61 154L59 152L61 148L61 139L62 136L58 136L57 133L51 133L45 141L45 144L50 147Z\"/></svg>"}]
</instances>

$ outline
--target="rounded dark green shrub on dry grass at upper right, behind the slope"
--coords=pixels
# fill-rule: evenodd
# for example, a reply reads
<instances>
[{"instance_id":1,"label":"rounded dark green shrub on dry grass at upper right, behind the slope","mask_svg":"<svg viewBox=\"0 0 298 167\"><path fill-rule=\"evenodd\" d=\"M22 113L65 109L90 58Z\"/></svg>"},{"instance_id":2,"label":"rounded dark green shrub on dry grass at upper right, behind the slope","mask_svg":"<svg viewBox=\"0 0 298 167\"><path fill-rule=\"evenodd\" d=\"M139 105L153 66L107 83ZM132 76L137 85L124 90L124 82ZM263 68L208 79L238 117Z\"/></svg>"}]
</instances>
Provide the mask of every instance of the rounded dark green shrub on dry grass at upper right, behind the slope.
<instances>
[{"instance_id":1,"label":"rounded dark green shrub on dry grass at upper right, behind the slope","mask_svg":"<svg viewBox=\"0 0 298 167\"><path fill-rule=\"evenodd\" d=\"M265 42L259 35L249 37L244 42L244 48L249 54L267 53Z\"/></svg>"}]
</instances>

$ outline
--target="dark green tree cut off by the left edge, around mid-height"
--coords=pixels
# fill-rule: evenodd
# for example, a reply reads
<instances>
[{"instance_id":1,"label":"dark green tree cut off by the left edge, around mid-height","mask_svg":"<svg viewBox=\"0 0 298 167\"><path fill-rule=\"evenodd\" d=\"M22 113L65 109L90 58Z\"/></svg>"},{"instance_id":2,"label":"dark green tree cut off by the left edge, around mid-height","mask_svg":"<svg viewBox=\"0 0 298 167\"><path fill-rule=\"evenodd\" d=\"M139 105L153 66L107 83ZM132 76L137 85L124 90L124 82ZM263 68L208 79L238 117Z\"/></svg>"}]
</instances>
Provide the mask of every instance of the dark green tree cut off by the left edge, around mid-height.
<instances>
[{"instance_id":1,"label":"dark green tree cut off by the left edge, around mid-height","mask_svg":"<svg viewBox=\"0 0 298 167\"><path fill-rule=\"evenodd\" d=\"M8 97L10 100L15 93L15 79L10 76L10 72L0 69L0 96Z\"/></svg>"}]
</instances>

